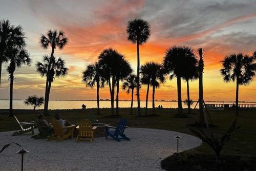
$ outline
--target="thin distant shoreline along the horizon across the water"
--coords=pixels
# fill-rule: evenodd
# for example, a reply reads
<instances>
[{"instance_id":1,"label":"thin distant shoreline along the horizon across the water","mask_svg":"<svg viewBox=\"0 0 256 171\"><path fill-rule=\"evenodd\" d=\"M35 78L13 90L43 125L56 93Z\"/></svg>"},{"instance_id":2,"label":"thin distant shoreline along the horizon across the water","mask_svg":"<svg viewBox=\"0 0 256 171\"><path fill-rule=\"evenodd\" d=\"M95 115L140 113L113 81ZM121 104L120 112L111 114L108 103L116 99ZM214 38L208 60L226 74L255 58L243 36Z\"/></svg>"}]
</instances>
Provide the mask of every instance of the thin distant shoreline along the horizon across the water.
<instances>
[{"instance_id":1,"label":"thin distant shoreline along the horizon across the water","mask_svg":"<svg viewBox=\"0 0 256 171\"><path fill-rule=\"evenodd\" d=\"M9 99L0 99L0 100L9 100ZM25 99L13 99L16 101L24 101ZM55 100L49 100L49 101L97 101L97 100L59 100L59 99L55 99ZM99 100L99 101L111 101L111 100ZM119 101L131 101L131 100L119 100ZM137 101L137 100L134 100ZM146 100L140 100L140 101L146 101ZM148 100L148 101L152 101L152 100ZM155 102L178 102L177 100L155 100ZM197 101L194 101L197 102ZM236 101L205 101L205 102L211 102L211 103L234 103ZM256 103L256 101L239 101L239 103Z\"/></svg>"}]
</instances>

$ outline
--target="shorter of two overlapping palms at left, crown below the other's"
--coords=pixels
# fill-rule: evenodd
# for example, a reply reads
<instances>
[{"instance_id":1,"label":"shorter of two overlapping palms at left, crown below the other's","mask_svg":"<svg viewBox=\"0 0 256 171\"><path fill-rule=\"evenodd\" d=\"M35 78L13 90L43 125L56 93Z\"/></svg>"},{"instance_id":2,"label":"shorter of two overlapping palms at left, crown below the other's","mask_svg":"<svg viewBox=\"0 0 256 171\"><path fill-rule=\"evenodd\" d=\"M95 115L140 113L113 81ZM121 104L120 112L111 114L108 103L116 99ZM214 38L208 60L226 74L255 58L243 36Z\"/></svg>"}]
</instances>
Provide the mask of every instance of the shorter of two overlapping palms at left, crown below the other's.
<instances>
[{"instance_id":1,"label":"shorter of two overlapping palms at left, crown below the other's","mask_svg":"<svg viewBox=\"0 0 256 171\"><path fill-rule=\"evenodd\" d=\"M48 101L50 97L52 82L55 77L67 75L68 68L65 67L65 61L60 57L56 59L55 56L50 57L45 55L42 60L44 63L36 62L36 69L41 76L46 76L47 80L49 81L46 94L47 99L45 99L45 103L47 103L45 111L46 115L48 115Z\"/></svg>"}]
</instances>

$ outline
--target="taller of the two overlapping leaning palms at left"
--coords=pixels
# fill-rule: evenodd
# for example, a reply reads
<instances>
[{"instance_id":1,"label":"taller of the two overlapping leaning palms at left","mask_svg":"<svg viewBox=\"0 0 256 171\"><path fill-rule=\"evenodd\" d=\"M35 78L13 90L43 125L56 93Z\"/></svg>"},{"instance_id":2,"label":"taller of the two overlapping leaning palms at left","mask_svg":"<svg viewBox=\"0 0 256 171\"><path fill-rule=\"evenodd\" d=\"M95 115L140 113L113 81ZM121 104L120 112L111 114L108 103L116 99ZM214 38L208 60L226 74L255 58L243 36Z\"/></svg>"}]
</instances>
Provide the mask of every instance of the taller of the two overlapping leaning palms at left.
<instances>
[{"instance_id":1,"label":"taller of the two overlapping leaning palms at left","mask_svg":"<svg viewBox=\"0 0 256 171\"><path fill-rule=\"evenodd\" d=\"M48 49L49 47L52 48L51 51L51 56L50 59L53 58L54 55L54 50L58 47L59 50L63 49L63 47L65 47L67 45L68 42L68 38L65 36L65 34L60 30L59 32L57 30L49 30L47 35L41 35L40 36L40 44L41 47L43 49ZM50 71L50 66L51 66L52 61L49 61L49 66L48 66L48 71ZM49 99L49 97L47 97L48 90L49 90L49 79L48 77L46 78L46 88L45 88L45 115L47 115L48 111L47 111L47 106L48 106L48 101L47 99Z\"/></svg>"}]
</instances>

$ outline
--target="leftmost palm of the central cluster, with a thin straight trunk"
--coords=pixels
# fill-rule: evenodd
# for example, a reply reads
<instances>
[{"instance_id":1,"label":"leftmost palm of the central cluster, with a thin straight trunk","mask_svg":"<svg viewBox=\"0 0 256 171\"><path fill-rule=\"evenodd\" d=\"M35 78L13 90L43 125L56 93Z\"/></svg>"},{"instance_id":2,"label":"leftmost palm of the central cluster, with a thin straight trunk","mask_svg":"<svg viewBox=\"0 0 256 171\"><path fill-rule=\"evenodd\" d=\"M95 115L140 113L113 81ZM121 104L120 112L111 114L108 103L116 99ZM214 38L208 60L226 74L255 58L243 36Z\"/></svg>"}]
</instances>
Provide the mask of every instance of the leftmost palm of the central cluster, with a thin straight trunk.
<instances>
[{"instance_id":1,"label":"leftmost palm of the central cluster, with a thin straight trunk","mask_svg":"<svg viewBox=\"0 0 256 171\"><path fill-rule=\"evenodd\" d=\"M87 87L94 88L95 83L97 87L97 114L99 114L99 89L104 87L105 79L102 77L102 71L98 62L93 65L88 65L83 71L82 81L86 83Z\"/></svg>"}]
</instances>

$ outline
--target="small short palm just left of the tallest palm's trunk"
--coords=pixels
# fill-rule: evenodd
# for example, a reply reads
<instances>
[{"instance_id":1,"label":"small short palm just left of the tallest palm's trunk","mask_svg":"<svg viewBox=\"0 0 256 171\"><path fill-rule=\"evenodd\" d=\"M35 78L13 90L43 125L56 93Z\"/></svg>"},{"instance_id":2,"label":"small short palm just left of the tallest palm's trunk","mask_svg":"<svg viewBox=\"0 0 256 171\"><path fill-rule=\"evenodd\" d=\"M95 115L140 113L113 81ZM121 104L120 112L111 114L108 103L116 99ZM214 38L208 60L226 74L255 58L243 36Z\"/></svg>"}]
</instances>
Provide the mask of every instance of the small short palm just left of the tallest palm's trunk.
<instances>
[{"instance_id":1,"label":"small short palm just left of the tallest palm's trunk","mask_svg":"<svg viewBox=\"0 0 256 171\"><path fill-rule=\"evenodd\" d=\"M136 82L136 75L130 74L128 77L124 79L123 82L123 90L126 90L126 93L129 94L131 92L132 99L131 99L131 114L133 114L133 95L134 95L134 89L136 88L137 82Z\"/></svg>"}]
</instances>

